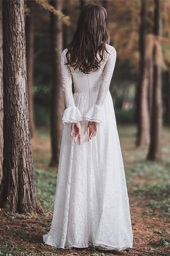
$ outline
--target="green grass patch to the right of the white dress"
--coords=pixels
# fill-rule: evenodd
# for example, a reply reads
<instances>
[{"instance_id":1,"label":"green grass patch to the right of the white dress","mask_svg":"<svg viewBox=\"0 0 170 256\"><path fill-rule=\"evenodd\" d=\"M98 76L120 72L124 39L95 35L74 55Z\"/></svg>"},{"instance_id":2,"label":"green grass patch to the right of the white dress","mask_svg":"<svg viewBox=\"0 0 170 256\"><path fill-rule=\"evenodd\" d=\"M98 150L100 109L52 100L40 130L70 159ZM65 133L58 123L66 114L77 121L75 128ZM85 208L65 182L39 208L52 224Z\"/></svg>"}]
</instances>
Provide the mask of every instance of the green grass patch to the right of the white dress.
<instances>
[{"instance_id":1,"label":"green grass patch to the right of the white dress","mask_svg":"<svg viewBox=\"0 0 170 256\"><path fill-rule=\"evenodd\" d=\"M135 147L136 128L118 125L128 187L146 198L150 206L170 216L170 129L164 127L162 159L146 159L148 146Z\"/></svg>"}]
</instances>

